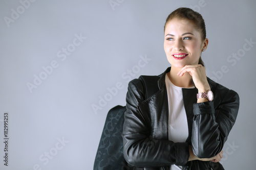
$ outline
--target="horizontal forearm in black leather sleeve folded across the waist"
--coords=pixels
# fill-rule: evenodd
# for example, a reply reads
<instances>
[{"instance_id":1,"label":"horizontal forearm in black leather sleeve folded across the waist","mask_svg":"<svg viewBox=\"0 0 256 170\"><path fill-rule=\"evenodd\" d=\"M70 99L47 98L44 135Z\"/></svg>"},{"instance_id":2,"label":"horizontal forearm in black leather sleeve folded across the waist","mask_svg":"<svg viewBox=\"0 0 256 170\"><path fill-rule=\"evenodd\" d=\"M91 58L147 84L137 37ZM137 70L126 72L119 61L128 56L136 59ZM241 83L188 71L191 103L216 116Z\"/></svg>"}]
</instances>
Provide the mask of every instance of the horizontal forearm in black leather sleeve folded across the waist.
<instances>
[{"instance_id":1,"label":"horizontal forearm in black leather sleeve folded across the waist","mask_svg":"<svg viewBox=\"0 0 256 170\"><path fill-rule=\"evenodd\" d=\"M130 141L124 140L127 142L124 141L124 158L134 166L185 165L189 157L187 143L148 138L137 142L131 138Z\"/></svg>"}]
</instances>

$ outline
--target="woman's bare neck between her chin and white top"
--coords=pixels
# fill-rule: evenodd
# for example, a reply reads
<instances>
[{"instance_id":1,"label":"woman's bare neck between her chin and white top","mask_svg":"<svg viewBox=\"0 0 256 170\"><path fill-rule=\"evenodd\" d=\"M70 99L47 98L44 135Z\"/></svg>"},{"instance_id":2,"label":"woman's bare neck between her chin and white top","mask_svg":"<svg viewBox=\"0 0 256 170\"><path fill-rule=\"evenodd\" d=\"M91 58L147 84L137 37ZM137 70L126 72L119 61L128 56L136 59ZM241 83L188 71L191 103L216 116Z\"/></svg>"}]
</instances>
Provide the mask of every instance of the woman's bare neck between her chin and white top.
<instances>
[{"instance_id":1,"label":"woman's bare neck between her chin and white top","mask_svg":"<svg viewBox=\"0 0 256 170\"><path fill-rule=\"evenodd\" d=\"M179 72L180 68L171 67L170 72L167 73L167 76L169 80L178 87L192 87L194 86L192 80L192 77L188 72L186 72L182 77L177 76L177 73Z\"/></svg>"}]
</instances>

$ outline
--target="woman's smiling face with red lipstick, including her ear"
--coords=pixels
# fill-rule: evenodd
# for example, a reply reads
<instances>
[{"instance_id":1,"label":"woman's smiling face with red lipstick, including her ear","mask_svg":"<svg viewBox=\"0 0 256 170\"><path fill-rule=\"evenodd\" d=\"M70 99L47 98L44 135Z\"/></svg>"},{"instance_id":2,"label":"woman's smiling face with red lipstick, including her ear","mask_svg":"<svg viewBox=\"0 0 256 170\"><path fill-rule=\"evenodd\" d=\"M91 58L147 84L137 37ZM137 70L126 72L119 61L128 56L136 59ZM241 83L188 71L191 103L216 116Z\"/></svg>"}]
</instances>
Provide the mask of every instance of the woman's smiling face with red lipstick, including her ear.
<instances>
[{"instance_id":1,"label":"woman's smiling face with red lipstick, including her ear","mask_svg":"<svg viewBox=\"0 0 256 170\"><path fill-rule=\"evenodd\" d=\"M198 64L201 52L206 49L207 44L208 39L203 42L201 33L189 20L173 18L166 23L164 51L172 67Z\"/></svg>"}]
</instances>

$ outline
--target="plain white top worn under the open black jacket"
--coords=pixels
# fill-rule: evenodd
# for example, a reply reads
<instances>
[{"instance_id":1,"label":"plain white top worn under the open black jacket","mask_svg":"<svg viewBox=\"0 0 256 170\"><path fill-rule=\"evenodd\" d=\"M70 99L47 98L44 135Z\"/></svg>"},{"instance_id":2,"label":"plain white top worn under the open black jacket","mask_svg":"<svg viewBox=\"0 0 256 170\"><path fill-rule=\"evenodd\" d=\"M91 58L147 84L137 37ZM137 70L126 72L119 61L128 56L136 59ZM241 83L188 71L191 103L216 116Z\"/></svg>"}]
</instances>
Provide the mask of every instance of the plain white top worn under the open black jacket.
<instances>
[{"instance_id":1,"label":"plain white top worn under the open black jacket","mask_svg":"<svg viewBox=\"0 0 256 170\"><path fill-rule=\"evenodd\" d=\"M185 142L188 137L188 125L182 96L183 87L175 86L167 74L165 84L169 104L168 139L174 142ZM195 88L195 86L190 88ZM171 165L170 169L182 170L182 166Z\"/></svg>"}]
</instances>

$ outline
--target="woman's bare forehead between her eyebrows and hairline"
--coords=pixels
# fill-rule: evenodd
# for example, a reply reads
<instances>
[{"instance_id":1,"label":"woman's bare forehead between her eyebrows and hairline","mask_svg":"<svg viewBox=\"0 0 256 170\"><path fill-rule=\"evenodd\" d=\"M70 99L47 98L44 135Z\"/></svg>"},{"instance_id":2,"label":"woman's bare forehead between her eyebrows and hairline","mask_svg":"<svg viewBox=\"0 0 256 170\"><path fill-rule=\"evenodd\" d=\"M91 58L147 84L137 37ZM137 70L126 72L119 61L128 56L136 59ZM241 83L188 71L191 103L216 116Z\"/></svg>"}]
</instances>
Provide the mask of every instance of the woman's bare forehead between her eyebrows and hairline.
<instances>
[{"instance_id":1,"label":"woman's bare forehead between her eyebrows and hairline","mask_svg":"<svg viewBox=\"0 0 256 170\"><path fill-rule=\"evenodd\" d=\"M172 20L169 20L165 25L165 34L183 34L186 32L190 32L193 34L200 34L193 22L187 20L187 19L178 19L173 18Z\"/></svg>"}]
</instances>

